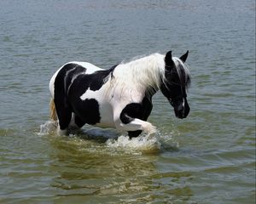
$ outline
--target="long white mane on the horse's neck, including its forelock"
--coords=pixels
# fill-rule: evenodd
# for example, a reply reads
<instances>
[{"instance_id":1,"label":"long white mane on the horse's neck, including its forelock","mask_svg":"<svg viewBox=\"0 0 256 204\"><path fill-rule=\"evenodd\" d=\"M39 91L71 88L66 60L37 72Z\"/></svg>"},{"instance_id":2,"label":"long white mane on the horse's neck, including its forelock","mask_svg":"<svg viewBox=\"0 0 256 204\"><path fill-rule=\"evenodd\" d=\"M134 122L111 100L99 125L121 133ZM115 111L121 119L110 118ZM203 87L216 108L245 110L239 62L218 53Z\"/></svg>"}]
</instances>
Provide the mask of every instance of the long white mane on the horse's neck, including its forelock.
<instances>
[{"instance_id":1,"label":"long white mane on the horse's neck, including its forelock","mask_svg":"<svg viewBox=\"0 0 256 204\"><path fill-rule=\"evenodd\" d=\"M172 58L176 67L180 82L187 88L189 82L189 70L181 59ZM112 80L114 86L119 88L130 88L133 90L149 91L154 93L160 89L160 82L166 81L165 77L165 55L150 54L130 62L122 62L113 71Z\"/></svg>"}]
</instances>

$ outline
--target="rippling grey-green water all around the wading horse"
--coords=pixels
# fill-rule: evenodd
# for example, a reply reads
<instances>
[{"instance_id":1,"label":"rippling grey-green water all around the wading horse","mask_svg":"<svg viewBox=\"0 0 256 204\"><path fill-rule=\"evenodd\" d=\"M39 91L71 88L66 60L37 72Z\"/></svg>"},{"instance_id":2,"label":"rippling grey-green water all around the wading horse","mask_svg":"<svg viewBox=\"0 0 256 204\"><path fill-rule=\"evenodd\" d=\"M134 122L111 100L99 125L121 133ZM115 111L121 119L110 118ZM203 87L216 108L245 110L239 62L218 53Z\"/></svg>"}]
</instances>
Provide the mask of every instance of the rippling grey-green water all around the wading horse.
<instances>
[{"instance_id":1,"label":"rippling grey-green water all around the wading horse","mask_svg":"<svg viewBox=\"0 0 256 204\"><path fill-rule=\"evenodd\" d=\"M1 1L1 203L254 203L255 1ZM50 130L49 78L189 49L191 112L154 137ZM40 129L41 127L41 129Z\"/></svg>"}]
</instances>

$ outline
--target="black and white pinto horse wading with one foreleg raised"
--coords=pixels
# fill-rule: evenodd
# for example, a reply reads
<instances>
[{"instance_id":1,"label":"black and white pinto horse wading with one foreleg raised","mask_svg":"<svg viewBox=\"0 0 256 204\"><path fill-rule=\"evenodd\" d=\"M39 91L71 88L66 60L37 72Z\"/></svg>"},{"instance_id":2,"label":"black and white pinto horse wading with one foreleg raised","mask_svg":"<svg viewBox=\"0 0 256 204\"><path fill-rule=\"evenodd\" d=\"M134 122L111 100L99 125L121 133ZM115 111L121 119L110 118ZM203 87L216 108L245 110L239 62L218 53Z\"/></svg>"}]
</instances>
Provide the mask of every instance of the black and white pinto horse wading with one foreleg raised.
<instances>
[{"instance_id":1,"label":"black and white pinto horse wading with one foreleg raised","mask_svg":"<svg viewBox=\"0 0 256 204\"><path fill-rule=\"evenodd\" d=\"M85 123L127 131L130 138L155 133L156 127L147 119L152 96L159 90L175 116L185 118L190 110L188 54L189 50L177 58L172 51L155 53L107 70L88 62L62 65L49 81L50 117L58 121L57 133L67 134Z\"/></svg>"}]
</instances>

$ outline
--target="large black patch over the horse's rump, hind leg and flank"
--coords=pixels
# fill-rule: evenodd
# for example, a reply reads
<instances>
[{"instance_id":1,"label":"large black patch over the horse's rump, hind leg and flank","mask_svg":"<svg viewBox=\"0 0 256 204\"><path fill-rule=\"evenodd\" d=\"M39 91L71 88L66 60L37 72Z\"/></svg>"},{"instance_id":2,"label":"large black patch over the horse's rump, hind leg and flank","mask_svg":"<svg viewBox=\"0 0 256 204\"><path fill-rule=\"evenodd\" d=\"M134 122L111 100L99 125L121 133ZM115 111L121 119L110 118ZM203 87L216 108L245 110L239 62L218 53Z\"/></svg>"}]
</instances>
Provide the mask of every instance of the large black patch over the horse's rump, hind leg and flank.
<instances>
[{"instance_id":1,"label":"large black patch over the horse's rump, hind leg and flank","mask_svg":"<svg viewBox=\"0 0 256 204\"><path fill-rule=\"evenodd\" d=\"M55 77L55 108L61 129L68 127L72 112L75 113L75 123L82 127L85 123L95 125L101 121L99 104L96 99L80 99L89 88L99 90L107 82L107 77L113 77L114 65L109 70L86 74L86 69L75 63L64 65Z\"/></svg>"}]
</instances>

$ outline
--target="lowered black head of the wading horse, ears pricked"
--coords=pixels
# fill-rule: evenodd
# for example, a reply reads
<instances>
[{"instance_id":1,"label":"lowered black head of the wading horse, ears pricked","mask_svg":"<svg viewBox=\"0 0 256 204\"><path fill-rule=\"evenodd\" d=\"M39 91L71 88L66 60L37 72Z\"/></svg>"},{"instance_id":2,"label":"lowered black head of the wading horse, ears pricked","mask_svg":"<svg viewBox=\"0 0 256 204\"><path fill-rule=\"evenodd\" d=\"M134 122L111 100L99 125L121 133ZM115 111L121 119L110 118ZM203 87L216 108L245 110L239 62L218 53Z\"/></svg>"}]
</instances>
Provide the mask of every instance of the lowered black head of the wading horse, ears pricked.
<instances>
[{"instance_id":1,"label":"lowered black head of the wading horse, ears pricked","mask_svg":"<svg viewBox=\"0 0 256 204\"><path fill-rule=\"evenodd\" d=\"M160 90L169 100L174 108L175 116L185 118L189 115L189 104L187 101L187 88L189 88L189 70L184 62L189 54L183 54L180 58L172 58L172 51L165 57L165 74L161 79Z\"/></svg>"}]
</instances>

